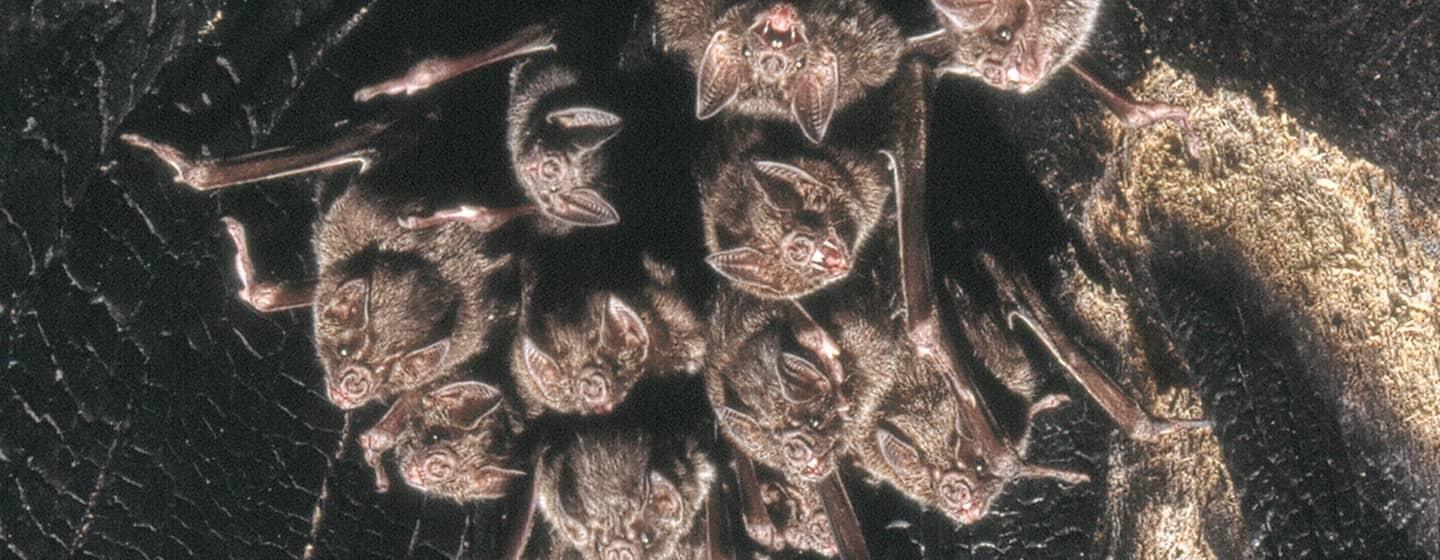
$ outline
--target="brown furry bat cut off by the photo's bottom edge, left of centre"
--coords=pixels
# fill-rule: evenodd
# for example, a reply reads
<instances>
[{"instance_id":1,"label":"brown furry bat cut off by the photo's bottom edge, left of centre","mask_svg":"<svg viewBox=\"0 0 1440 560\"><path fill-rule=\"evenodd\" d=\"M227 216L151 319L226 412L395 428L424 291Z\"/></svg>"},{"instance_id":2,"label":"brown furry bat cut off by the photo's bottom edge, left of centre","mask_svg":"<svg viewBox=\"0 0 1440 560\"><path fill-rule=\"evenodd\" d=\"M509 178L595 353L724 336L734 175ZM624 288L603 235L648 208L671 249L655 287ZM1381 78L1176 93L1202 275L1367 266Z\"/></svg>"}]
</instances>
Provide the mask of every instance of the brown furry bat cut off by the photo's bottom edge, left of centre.
<instances>
[{"instance_id":1,"label":"brown furry bat cut off by the photo's bottom edge, left of centre","mask_svg":"<svg viewBox=\"0 0 1440 560\"><path fill-rule=\"evenodd\" d=\"M716 468L693 439L660 445L647 432L589 430L550 448L536 477L552 557L719 557Z\"/></svg>"}]
</instances>

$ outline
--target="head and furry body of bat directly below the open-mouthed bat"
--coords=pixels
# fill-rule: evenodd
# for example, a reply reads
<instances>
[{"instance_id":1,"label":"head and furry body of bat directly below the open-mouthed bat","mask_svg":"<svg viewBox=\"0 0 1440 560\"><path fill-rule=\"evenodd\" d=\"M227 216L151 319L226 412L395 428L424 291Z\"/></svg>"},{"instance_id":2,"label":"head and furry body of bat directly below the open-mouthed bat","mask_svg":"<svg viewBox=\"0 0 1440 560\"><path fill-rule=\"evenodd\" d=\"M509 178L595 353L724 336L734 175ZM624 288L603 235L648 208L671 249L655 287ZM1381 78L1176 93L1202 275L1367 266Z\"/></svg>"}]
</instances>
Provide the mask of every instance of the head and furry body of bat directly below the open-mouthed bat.
<instances>
[{"instance_id":1,"label":"head and furry body of bat directly below the open-mouthed bat","mask_svg":"<svg viewBox=\"0 0 1440 560\"><path fill-rule=\"evenodd\" d=\"M887 193L870 171L863 163L847 167L809 157L729 164L717 183L730 184L706 193L711 200L733 197L706 207L713 250L706 262L737 288L773 299L847 278ZM720 210L724 206L730 209ZM742 216L726 220L726 213Z\"/></svg>"}]
</instances>

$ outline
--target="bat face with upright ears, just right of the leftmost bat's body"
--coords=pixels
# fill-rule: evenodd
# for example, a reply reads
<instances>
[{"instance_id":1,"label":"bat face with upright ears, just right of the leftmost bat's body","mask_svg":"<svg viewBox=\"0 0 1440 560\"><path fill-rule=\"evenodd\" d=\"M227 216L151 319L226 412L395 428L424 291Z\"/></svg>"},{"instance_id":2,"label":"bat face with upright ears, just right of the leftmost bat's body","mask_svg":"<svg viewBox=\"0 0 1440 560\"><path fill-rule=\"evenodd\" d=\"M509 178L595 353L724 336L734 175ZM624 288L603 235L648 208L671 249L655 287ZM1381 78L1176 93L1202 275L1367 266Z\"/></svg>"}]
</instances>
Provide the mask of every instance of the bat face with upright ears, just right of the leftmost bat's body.
<instances>
[{"instance_id":1,"label":"bat face with upright ears, just right of the leftmost bat's body","mask_svg":"<svg viewBox=\"0 0 1440 560\"><path fill-rule=\"evenodd\" d=\"M579 324L543 324L550 351L530 335L516 341L516 383L546 409L606 415L645 371L651 330L641 314L613 294L589 298L589 311Z\"/></svg>"}]
</instances>

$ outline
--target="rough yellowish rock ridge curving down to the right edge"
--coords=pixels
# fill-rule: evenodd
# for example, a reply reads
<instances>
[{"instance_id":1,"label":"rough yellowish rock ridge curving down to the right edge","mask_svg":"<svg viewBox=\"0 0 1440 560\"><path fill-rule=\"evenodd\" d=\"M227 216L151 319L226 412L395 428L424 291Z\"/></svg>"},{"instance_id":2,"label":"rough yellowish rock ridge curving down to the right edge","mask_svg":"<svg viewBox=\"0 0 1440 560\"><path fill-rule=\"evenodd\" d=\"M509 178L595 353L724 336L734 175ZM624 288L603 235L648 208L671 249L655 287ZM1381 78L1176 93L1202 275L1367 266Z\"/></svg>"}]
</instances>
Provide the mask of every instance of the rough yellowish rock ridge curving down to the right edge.
<instances>
[{"instance_id":1,"label":"rough yellowish rock ridge curving down to the right edge","mask_svg":"<svg viewBox=\"0 0 1440 560\"><path fill-rule=\"evenodd\" d=\"M1440 484L1440 220L1380 167L1303 130L1273 92L1257 107L1156 63L1132 95L1187 107L1205 158L1188 163L1171 125L1132 131L1109 118L1116 180L1083 204L1087 242L1143 261L1149 227L1171 223L1237 249L1266 297L1323 343L1331 371L1316 374L1338 392L1346 436L1382 438L1411 488ZM1070 289L1089 322L1123 312L1093 288Z\"/></svg>"}]
</instances>

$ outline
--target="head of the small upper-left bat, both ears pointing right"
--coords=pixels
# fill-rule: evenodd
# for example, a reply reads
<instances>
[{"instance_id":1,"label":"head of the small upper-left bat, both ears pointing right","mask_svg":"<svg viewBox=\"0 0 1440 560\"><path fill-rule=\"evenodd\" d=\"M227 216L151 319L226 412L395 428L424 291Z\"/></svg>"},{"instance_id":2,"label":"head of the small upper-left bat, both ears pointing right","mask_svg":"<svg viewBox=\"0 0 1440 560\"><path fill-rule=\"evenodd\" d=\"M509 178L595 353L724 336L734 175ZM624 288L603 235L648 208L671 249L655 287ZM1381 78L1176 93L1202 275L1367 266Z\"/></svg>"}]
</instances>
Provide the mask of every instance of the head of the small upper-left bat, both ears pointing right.
<instances>
[{"instance_id":1,"label":"head of the small upper-left bat, both ears pointing right","mask_svg":"<svg viewBox=\"0 0 1440 560\"><path fill-rule=\"evenodd\" d=\"M600 194L605 144L621 131L619 115L589 107L556 107L577 94L579 73L552 58L528 59L510 75L507 144L516 180L540 212L566 226L619 222Z\"/></svg>"}]
</instances>

